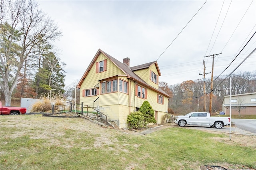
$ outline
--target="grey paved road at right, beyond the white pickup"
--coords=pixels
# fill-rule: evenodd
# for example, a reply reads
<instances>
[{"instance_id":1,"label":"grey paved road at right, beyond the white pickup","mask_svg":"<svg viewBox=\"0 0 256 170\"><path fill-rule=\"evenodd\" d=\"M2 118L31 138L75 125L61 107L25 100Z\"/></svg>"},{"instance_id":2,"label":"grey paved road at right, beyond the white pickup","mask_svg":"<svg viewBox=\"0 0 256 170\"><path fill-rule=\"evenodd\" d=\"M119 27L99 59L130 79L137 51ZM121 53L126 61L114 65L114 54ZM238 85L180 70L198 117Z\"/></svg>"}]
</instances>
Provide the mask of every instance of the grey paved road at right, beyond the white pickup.
<instances>
[{"instance_id":1,"label":"grey paved road at right, beyond the white pickup","mask_svg":"<svg viewBox=\"0 0 256 170\"><path fill-rule=\"evenodd\" d=\"M256 119L231 119L236 127L252 133L256 133Z\"/></svg>"}]
</instances>

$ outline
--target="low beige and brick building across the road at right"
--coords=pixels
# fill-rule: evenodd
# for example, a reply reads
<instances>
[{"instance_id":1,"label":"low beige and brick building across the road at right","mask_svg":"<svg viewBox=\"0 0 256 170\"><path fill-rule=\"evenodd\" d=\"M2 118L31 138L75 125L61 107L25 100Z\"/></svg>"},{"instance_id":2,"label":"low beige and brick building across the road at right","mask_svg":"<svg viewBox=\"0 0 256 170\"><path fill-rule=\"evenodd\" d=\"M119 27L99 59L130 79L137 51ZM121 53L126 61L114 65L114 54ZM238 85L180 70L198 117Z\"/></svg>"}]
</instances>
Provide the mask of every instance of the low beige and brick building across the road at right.
<instances>
[{"instance_id":1,"label":"low beige and brick building across the road at right","mask_svg":"<svg viewBox=\"0 0 256 170\"><path fill-rule=\"evenodd\" d=\"M230 113L230 102L232 115L256 115L256 92L231 95L231 101L230 95L224 96L222 110L226 115Z\"/></svg>"}]
</instances>

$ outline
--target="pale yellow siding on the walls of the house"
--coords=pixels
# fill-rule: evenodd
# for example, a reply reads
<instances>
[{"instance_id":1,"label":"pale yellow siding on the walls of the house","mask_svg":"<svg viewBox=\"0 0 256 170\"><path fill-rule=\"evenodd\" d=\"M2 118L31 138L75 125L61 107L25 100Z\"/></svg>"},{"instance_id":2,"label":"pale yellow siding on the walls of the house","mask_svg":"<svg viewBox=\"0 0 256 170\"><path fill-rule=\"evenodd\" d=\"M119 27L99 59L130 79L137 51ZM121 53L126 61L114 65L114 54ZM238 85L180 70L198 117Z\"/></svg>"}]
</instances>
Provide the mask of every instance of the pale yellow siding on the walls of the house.
<instances>
[{"instance_id":1,"label":"pale yellow siding on the walls of the house","mask_svg":"<svg viewBox=\"0 0 256 170\"><path fill-rule=\"evenodd\" d=\"M101 73L96 73L96 62L103 61L107 59L107 70ZM150 69L158 75L157 69L155 65L152 65ZM150 69L142 69L138 71L134 71L139 77L141 77L146 83L151 85L152 87L158 89L158 85L153 83L150 80ZM147 89L147 99L142 99L135 96L135 83L134 81L130 81L127 77L119 77L124 81L128 82L128 93L122 92L114 92L114 93L106 93L100 94L96 96L82 97L82 92L84 89L93 89L95 85L99 83L99 80L106 79L108 77L113 77L116 75L124 75L124 72L121 71L112 61L110 61L105 55L102 53L98 56L92 68L88 72L86 78L84 79L81 87L80 87L80 102L84 102L84 106L88 105L93 107L93 101L100 97L100 112L108 115L108 119L118 120L118 126L128 127L127 116L130 112L133 112L136 107L141 107L142 103L147 100L154 111L158 111L158 121L160 124L162 120L162 116L168 109L168 98L164 97L164 105L160 105L157 103L157 93L152 91L151 89ZM119 87L119 80L118 80ZM143 87L143 86L142 86ZM144 87L145 88L145 87ZM119 91L119 88L118 88ZM129 106L130 105L130 106ZM85 108L86 111L86 108Z\"/></svg>"}]
</instances>

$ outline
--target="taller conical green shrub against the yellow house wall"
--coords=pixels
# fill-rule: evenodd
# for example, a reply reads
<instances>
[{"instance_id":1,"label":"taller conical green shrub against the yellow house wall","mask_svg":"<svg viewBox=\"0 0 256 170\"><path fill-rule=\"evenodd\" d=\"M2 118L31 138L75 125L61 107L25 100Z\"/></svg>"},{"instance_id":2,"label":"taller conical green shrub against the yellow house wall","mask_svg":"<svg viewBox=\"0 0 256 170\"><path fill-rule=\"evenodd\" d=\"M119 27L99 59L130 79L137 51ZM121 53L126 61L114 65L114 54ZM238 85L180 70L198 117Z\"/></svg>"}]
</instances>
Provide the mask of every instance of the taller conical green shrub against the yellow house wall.
<instances>
[{"instance_id":1,"label":"taller conical green shrub against the yellow house wall","mask_svg":"<svg viewBox=\"0 0 256 170\"><path fill-rule=\"evenodd\" d=\"M144 101L142 106L140 107L139 111L143 114L145 117L145 125L148 125L149 123L156 123L155 119L155 111L152 109L152 106L150 106L148 101Z\"/></svg>"}]
</instances>

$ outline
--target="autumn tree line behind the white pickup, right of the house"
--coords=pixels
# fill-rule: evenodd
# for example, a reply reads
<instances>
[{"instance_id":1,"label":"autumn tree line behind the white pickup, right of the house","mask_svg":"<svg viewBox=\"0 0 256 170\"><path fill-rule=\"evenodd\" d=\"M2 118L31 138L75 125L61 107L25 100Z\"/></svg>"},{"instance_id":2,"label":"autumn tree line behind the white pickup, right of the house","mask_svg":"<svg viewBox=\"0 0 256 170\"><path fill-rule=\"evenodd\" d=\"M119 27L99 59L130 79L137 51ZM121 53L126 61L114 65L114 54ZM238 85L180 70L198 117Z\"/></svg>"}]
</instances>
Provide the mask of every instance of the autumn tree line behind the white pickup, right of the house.
<instances>
[{"instance_id":1,"label":"autumn tree line behind the white pickup, right of the house","mask_svg":"<svg viewBox=\"0 0 256 170\"><path fill-rule=\"evenodd\" d=\"M192 111L204 111L204 96L206 97L206 111L209 112L211 80L207 79L206 93L204 94L204 81L187 80L175 85L168 85L160 82L159 86L171 97L168 104L168 112L175 114L185 114ZM214 77L212 111L216 113L222 111L222 101L224 96L230 95L230 77L222 75L216 79ZM231 94L243 94L256 92L256 71L239 72L232 74Z\"/></svg>"}]
</instances>

